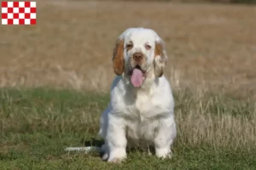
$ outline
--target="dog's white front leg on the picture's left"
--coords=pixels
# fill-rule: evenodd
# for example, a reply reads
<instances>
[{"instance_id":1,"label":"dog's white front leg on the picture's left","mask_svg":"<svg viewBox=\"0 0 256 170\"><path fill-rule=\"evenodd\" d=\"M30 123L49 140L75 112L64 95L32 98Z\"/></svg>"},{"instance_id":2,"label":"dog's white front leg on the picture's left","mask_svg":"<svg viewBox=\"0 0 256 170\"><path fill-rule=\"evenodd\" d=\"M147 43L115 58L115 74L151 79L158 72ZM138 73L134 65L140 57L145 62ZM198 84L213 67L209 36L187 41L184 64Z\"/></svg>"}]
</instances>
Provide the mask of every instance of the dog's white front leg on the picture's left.
<instances>
[{"instance_id":1,"label":"dog's white front leg on the picture's left","mask_svg":"<svg viewBox=\"0 0 256 170\"><path fill-rule=\"evenodd\" d=\"M112 114L108 115L108 161L119 162L126 158L125 122L122 117Z\"/></svg>"}]
</instances>

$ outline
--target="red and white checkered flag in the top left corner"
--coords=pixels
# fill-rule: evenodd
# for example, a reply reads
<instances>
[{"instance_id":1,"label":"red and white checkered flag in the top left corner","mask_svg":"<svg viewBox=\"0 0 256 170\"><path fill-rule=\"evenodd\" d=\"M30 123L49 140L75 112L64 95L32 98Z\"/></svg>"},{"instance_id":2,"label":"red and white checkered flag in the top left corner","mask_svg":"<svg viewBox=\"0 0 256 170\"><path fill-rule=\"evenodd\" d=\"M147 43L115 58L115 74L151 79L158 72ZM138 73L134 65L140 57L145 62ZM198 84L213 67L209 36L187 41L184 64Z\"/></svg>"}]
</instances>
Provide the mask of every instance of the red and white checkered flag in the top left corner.
<instances>
[{"instance_id":1,"label":"red and white checkered flag in the top left corner","mask_svg":"<svg viewBox=\"0 0 256 170\"><path fill-rule=\"evenodd\" d=\"M2 25L36 25L36 2L2 2Z\"/></svg>"}]
</instances>

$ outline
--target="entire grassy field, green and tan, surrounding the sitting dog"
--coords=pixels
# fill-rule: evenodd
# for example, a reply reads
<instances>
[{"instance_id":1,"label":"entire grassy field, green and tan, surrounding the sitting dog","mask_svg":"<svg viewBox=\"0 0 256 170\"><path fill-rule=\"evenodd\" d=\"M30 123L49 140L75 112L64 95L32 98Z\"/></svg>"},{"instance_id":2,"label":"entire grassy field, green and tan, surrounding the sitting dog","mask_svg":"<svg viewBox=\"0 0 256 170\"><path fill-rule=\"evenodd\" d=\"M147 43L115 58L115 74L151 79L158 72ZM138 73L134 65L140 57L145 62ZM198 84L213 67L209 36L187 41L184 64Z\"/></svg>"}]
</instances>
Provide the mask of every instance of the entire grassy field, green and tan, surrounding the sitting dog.
<instances>
[{"instance_id":1,"label":"entire grassy field, green and tan, surrounding the sitting dog","mask_svg":"<svg viewBox=\"0 0 256 170\"><path fill-rule=\"evenodd\" d=\"M256 6L38 1L37 26L0 27L0 169L255 169ZM120 165L67 146L102 144L116 37L153 28L176 101L172 160Z\"/></svg>"}]
</instances>

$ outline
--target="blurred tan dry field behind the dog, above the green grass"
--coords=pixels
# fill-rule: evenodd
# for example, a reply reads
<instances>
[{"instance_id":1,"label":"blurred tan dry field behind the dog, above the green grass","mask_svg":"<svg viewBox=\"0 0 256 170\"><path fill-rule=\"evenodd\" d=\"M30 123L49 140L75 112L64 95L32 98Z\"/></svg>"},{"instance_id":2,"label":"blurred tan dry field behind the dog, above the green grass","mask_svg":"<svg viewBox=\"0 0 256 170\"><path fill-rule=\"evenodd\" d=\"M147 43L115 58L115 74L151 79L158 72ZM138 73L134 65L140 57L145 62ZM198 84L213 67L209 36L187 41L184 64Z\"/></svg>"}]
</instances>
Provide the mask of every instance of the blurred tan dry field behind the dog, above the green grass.
<instances>
[{"instance_id":1,"label":"blurred tan dry field behind the dog, above the green grass","mask_svg":"<svg viewBox=\"0 0 256 170\"><path fill-rule=\"evenodd\" d=\"M173 88L255 98L255 0L37 2L36 26L0 27L0 87L108 92L115 39L148 27Z\"/></svg>"}]
</instances>

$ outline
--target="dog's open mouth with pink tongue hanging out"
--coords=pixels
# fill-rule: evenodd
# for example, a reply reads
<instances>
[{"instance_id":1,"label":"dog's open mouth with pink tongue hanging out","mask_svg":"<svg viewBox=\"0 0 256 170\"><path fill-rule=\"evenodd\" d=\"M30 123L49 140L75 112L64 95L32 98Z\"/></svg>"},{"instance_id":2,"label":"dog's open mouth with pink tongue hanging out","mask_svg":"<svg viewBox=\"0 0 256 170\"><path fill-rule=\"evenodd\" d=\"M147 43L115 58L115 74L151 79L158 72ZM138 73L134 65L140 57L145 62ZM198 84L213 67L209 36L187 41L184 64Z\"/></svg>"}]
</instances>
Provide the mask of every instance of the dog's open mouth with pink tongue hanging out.
<instances>
[{"instance_id":1,"label":"dog's open mouth with pink tongue hanging out","mask_svg":"<svg viewBox=\"0 0 256 170\"><path fill-rule=\"evenodd\" d=\"M136 65L133 70L129 71L129 76L131 76L132 85L139 88L145 79L145 71L140 65Z\"/></svg>"}]
</instances>

